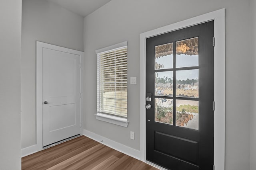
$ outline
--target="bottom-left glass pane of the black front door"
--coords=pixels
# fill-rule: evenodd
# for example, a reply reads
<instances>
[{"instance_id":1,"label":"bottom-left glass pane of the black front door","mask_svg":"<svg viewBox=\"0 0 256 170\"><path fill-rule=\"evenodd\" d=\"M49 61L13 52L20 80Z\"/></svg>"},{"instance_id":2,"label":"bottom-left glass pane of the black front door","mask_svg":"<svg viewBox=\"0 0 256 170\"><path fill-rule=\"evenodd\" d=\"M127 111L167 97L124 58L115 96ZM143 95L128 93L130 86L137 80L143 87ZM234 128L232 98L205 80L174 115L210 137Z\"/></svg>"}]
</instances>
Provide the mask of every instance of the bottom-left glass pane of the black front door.
<instances>
[{"instance_id":1,"label":"bottom-left glass pane of the black front door","mask_svg":"<svg viewBox=\"0 0 256 170\"><path fill-rule=\"evenodd\" d=\"M155 121L173 124L173 100L155 98Z\"/></svg>"}]
</instances>

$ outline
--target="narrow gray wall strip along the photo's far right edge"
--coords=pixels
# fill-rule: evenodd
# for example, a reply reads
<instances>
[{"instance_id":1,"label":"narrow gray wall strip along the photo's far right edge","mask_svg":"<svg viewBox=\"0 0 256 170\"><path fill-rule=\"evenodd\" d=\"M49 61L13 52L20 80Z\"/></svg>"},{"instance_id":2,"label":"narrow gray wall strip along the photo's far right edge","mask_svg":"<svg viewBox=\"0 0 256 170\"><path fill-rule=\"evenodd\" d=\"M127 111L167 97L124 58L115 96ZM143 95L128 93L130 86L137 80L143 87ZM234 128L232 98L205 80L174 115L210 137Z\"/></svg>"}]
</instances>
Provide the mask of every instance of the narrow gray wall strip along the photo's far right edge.
<instances>
[{"instance_id":1,"label":"narrow gray wall strip along the photo's far right edge","mask_svg":"<svg viewBox=\"0 0 256 170\"><path fill-rule=\"evenodd\" d=\"M256 167L256 114L255 114L255 103L256 103L256 53L255 53L255 48L256 48L256 0L250 0L250 28L251 28L251 40L252 40L252 50L250 50L250 55L252 56L252 83L251 83L251 141L250 141L250 170L254 170Z\"/></svg>"}]
</instances>

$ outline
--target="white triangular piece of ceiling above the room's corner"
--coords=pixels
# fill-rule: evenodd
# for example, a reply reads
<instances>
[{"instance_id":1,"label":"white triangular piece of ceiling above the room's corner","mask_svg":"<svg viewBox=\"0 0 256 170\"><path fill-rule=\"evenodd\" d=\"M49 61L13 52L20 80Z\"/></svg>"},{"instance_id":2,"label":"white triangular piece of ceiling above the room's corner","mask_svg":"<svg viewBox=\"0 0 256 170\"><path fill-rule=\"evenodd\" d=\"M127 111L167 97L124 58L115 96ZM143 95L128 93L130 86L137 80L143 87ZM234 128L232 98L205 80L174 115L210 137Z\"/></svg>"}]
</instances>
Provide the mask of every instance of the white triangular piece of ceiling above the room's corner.
<instances>
[{"instance_id":1,"label":"white triangular piece of ceiling above the room's corner","mask_svg":"<svg viewBox=\"0 0 256 170\"><path fill-rule=\"evenodd\" d=\"M110 0L48 0L80 16L87 16Z\"/></svg>"}]
</instances>

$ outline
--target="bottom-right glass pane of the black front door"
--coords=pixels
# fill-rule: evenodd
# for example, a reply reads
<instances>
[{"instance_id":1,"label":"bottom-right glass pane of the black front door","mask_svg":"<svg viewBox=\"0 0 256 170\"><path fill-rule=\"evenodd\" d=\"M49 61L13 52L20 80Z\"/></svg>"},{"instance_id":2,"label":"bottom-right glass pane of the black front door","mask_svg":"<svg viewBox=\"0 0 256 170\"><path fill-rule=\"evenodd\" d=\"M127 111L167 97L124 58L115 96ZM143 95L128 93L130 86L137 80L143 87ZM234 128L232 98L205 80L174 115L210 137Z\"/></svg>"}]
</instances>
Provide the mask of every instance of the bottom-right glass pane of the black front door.
<instances>
[{"instance_id":1,"label":"bottom-right glass pane of the black front door","mask_svg":"<svg viewBox=\"0 0 256 170\"><path fill-rule=\"evenodd\" d=\"M198 101L176 100L176 126L198 130Z\"/></svg>"}]
</instances>

